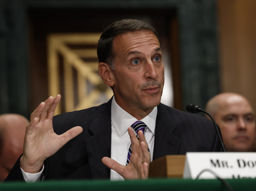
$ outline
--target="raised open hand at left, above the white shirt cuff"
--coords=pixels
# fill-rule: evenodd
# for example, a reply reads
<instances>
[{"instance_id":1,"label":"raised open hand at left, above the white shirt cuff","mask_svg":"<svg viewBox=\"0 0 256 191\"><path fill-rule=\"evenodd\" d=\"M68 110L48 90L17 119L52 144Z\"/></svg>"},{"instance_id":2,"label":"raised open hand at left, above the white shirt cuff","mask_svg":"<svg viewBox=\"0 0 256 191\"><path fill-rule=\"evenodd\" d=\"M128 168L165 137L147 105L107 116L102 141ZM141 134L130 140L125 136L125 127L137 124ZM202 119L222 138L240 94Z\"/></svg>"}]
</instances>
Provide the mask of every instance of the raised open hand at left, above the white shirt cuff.
<instances>
[{"instance_id":1,"label":"raised open hand at left, above the white shirt cuff","mask_svg":"<svg viewBox=\"0 0 256 191\"><path fill-rule=\"evenodd\" d=\"M59 94L55 98L51 96L40 103L31 114L30 123L26 127L24 153L20 158L20 167L23 171L38 173L44 160L83 131L80 126L76 126L64 134L55 134L52 118L60 100Z\"/></svg>"}]
</instances>

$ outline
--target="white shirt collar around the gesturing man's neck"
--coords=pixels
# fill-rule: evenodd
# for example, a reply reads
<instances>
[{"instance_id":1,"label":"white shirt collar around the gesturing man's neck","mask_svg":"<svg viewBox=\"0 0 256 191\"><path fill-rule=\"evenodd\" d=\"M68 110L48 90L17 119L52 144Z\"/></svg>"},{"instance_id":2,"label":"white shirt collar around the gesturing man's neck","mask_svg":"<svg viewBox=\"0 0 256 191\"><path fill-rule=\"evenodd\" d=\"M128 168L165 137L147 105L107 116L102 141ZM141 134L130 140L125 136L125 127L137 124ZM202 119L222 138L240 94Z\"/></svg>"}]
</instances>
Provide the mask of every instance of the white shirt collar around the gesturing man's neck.
<instances>
[{"instance_id":1,"label":"white shirt collar around the gesturing man's neck","mask_svg":"<svg viewBox=\"0 0 256 191\"><path fill-rule=\"evenodd\" d=\"M154 134L157 119L157 106L141 121L147 125L149 130ZM117 134L121 137L128 127L130 127L137 119L131 114L121 108L115 100L112 99L111 103L111 121L113 126L116 128Z\"/></svg>"}]
</instances>

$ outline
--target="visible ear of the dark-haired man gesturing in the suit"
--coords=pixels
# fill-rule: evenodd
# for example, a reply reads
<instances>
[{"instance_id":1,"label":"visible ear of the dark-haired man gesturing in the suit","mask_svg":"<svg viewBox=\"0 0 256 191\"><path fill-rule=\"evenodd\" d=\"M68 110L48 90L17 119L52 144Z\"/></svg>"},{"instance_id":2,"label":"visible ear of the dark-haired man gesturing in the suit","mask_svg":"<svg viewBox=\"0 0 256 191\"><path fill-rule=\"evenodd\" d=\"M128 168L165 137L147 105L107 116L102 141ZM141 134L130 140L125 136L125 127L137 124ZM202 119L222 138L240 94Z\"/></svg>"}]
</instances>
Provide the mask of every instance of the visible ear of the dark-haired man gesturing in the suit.
<instances>
[{"instance_id":1,"label":"visible ear of the dark-haired man gesturing in the suit","mask_svg":"<svg viewBox=\"0 0 256 191\"><path fill-rule=\"evenodd\" d=\"M113 71L107 63L99 63L98 72L106 85L114 85Z\"/></svg>"}]
</instances>

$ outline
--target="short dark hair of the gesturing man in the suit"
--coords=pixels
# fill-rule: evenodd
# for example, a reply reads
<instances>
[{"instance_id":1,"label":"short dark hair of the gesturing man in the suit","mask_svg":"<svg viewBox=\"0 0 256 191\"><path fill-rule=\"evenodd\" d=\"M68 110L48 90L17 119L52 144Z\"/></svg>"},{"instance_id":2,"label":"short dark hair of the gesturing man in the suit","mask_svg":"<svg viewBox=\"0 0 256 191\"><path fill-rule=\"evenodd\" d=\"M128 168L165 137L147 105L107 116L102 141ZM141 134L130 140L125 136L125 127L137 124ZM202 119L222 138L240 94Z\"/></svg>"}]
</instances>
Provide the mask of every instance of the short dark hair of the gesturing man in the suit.
<instances>
[{"instance_id":1,"label":"short dark hair of the gesturing man in the suit","mask_svg":"<svg viewBox=\"0 0 256 191\"><path fill-rule=\"evenodd\" d=\"M154 29L154 27L151 26L150 24L141 20L124 19L124 20L116 21L115 23L112 23L110 26L108 26L100 36L100 39L98 42L97 54L98 54L99 63L101 62L107 63L113 70L114 60L115 60L115 55L113 52L114 38L120 34L124 34L127 32L134 32L134 31L141 31L141 30L153 32L157 36L160 42L156 29Z\"/></svg>"}]
</instances>

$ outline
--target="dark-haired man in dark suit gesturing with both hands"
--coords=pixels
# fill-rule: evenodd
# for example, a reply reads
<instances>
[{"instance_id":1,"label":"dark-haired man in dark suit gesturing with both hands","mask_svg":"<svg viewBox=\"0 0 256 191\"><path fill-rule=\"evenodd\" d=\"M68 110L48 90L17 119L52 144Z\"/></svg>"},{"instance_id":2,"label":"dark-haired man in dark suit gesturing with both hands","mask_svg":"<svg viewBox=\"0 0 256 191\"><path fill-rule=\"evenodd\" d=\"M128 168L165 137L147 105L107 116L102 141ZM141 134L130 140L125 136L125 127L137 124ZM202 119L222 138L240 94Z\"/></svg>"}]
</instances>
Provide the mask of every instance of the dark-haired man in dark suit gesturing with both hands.
<instances>
[{"instance_id":1,"label":"dark-haired man in dark suit gesturing with both hands","mask_svg":"<svg viewBox=\"0 0 256 191\"><path fill-rule=\"evenodd\" d=\"M24 154L6 180L146 179L149 163L167 154L221 151L211 121L160 103L164 66L151 25L140 20L111 24L97 53L99 75L114 96L55 117L61 96L41 103L31 114ZM130 127L136 121L146 125L145 136L138 131L139 140Z\"/></svg>"}]
</instances>

